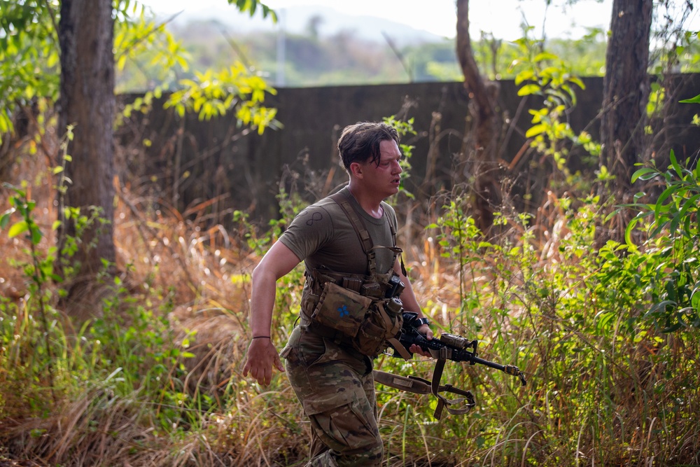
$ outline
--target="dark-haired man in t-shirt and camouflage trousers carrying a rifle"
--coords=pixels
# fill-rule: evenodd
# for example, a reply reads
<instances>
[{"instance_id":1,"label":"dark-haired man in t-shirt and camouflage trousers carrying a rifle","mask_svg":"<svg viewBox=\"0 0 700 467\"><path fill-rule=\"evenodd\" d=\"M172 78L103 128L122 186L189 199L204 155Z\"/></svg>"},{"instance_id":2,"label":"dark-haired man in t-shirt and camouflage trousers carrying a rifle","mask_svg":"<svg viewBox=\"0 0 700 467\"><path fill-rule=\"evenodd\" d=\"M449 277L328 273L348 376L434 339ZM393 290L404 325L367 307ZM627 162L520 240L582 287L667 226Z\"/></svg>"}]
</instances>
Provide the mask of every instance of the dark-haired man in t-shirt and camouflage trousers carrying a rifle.
<instances>
[{"instance_id":1,"label":"dark-haired man in t-shirt and camouflage trousers carrying a rifle","mask_svg":"<svg viewBox=\"0 0 700 467\"><path fill-rule=\"evenodd\" d=\"M384 202L399 190L398 143L384 123L346 127L338 151L349 184L296 216L253 271L253 336L243 374L267 385L285 358L311 421L308 466L381 464L373 357L400 329L401 304L419 314L419 332L433 338L395 246L395 212ZM275 282L302 260L300 322L278 355L269 339ZM410 351L428 355L416 345Z\"/></svg>"}]
</instances>

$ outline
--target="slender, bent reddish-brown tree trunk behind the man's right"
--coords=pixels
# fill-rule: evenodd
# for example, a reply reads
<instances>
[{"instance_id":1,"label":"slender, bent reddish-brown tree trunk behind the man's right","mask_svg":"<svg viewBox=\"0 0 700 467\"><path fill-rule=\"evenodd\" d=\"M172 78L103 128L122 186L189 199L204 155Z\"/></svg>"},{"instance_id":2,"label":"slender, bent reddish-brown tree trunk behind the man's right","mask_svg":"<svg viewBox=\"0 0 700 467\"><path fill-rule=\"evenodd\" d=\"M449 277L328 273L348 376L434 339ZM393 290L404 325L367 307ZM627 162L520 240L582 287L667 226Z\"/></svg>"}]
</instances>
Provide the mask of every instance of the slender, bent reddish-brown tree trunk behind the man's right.
<instances>
[{"instance_id":1,"label":"slender, bent reddish-brown tree trunk behind the man's right","mask_svg":"<svg viewBox=\"0 0 700 467\"><path fill-rule=\"evenodd\" d=\"M500 207L500 169L496 162L495 84L486 85L479 74L469 36L469 0L457 0L457 57L464 75L464 87L469 92L470 113L473 118L474 207L475 221L482 232L493 226L493 211ZM465 151L466 152L466 151Z\"/></svg>"}]
</instances>

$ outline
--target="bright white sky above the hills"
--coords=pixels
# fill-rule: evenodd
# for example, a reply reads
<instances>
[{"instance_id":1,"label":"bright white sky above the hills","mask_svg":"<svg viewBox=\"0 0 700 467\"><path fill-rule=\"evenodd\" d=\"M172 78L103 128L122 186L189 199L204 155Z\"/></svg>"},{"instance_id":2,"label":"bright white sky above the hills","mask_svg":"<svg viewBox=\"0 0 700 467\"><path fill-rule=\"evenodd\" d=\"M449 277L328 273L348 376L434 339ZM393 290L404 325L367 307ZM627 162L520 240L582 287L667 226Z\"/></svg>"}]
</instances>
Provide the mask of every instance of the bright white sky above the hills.
<instances>
[{"instance_id":1,"label":"bright white sky above the hills","mask_svg":"<svg viewBox=\"0 0 700 467\"><path fill-rule=\"evenodd\" d=\"M141 0L158 15L182 12L181 19L204 18L207 11L225 6L225 0ZM422 29L438 36L455 36L454 0L263 0L276 11L290 6L317 5L349 15L372 15ZM579 0L575 6L563 6L554 0L546 11L547 37L580 38L587 27L608 29L612 0ZM545 19L543 0L476 0L470 2L470 33L490 32L498 39L514 40L522 36L521 22L526 19L541 36ZM230 7L235 9L234 7Z\"/></svg>"}]
</instances>

